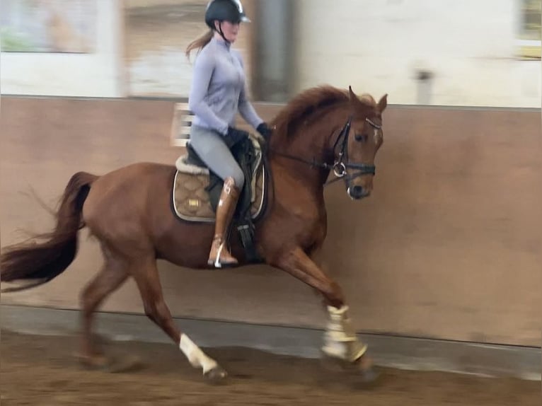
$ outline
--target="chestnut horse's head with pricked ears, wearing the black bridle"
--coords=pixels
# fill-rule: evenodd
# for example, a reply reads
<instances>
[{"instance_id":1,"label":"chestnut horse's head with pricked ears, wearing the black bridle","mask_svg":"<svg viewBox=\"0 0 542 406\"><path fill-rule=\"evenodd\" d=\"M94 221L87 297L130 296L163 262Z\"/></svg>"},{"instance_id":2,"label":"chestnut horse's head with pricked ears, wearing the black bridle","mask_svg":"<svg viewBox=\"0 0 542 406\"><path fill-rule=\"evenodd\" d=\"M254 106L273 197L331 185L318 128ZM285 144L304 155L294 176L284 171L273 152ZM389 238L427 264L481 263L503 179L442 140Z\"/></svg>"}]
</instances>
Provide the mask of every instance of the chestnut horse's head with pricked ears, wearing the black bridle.
<instances>
[{"instance_id":1,"label":"chestnut horse's head with pricked ears, wearing the black bridle","mask_svg":"<svg viewBox=\"0 0 542 406\"><path fill-rule=\"evenodd\" d=\"M384 142L382 112L386 109L388 95L376 103L371 95L358 98L351 87L349 93L350 118L333 146L333 171L345 180L352 199L362 199L373 190L374 157Z\"/></svg>"}]
</instances>

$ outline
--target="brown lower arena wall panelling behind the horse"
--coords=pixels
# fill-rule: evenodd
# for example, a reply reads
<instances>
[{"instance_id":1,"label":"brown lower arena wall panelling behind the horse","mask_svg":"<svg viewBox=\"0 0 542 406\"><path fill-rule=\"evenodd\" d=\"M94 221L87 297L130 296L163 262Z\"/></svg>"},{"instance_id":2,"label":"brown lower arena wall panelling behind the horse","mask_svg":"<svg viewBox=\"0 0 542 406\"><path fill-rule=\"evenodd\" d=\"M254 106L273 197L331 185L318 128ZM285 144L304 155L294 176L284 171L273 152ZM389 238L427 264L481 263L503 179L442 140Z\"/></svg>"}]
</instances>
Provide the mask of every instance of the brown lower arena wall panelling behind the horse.
<instances>
[{"instance_id":1,"label":"brown lower arena wall panelling behind the horse","mask_svg":"<svg viewBox=\"0 0 542 406\"><path fill-rule=\"evenodd\" d=\"M279 105L256 105L265 118ZM170 100L1 99L2 247L44 231L73 173L137 161L173 164ZM539 346L542 306L541 112L390 105L374 194L325 192L326 269L343 286L355 327L447 340ZM1 303L79 308L100 267L81 232L79 256L50 284ZM221 271L160 262L174 315L323 327L321 298L265 266ZM134 282L104 311L142 313ZM149 328L156 328L149 322Z\"/></svg>"}]
</instances>

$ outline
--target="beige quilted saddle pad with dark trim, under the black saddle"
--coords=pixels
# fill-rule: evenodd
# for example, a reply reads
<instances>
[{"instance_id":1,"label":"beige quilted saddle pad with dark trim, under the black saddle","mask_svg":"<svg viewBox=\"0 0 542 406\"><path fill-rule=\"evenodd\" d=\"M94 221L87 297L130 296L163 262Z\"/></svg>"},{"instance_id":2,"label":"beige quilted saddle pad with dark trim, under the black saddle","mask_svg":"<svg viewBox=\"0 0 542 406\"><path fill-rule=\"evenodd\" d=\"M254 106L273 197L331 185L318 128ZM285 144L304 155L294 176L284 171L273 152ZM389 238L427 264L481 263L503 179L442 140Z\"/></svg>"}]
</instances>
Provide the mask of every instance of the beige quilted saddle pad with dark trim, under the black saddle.
<instances>
[{"instance_id":1,"label":"beige quilted saddle pad with dark trim, under the black saddle","mask_svg":"<svg viewBox=\"0 0 542 406\"><path fill-rule=\"evenodd\" d=\"M180 156L175 162L177 172L173 181L173 209L180 219L214 223L215 214L209 201L209 170L186 163L187 155ZM253 173L251 188L250 214L252 219L260 216L265 202L265 171L261 153ZM245 186L246 187L246 186Z\"/></svg>"}]
</instances>

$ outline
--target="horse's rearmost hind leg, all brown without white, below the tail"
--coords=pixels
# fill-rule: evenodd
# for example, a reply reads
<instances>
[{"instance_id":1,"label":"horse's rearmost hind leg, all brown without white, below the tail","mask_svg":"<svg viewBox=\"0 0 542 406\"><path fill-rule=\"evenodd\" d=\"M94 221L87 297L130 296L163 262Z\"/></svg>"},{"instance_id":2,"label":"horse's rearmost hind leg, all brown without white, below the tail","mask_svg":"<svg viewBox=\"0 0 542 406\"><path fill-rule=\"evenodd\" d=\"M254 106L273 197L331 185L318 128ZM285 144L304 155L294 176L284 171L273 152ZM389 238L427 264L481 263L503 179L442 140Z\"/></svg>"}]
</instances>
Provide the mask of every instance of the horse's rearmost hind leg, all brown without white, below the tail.
<instances>
[{"instance_id":1,"label":"horse's rearmost hind leg, all brown without white, below the tail","mask_svg":"<svg viewBox=\"0 0 542 406\"><path fill-rule=\"evenodd\" d=\"M92 323L94 312L103 303L105 297L119 288L129 276L127 263L122 258L113 255L105 245L102 245L102 252L105 259L103 267L83 289L81 294L82 337L80 357L81 361L88 366L105 366L107 362L93 340Z\"/></svg>"}]
</instances>

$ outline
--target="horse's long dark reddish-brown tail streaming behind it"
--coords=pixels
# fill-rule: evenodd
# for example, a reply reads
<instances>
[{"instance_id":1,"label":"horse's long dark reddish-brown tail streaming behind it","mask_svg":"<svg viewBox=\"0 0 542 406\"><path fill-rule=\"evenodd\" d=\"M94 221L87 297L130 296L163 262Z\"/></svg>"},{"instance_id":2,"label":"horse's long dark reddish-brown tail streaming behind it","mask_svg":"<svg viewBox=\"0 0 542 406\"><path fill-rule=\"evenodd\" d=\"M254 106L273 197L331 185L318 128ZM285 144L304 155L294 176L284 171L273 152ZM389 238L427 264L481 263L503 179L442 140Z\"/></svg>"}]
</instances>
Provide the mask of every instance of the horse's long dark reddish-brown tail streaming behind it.
<instances>
[{"instance_id":1,"label":"horse's long dark reddish-brown tail streaming behind it","mask_svg":"<svg viewBox=\"0 0 542 406\"><path fill-rule=\"evenodd\" d=\"M25 243L11 245L0 255L0 280L21 281L23 286L0 289L21 291L49 282L62 274L77 253L77 233L85 226L81 219L83 203L98 176L78 172L68 182L55 214L57 226L50 233L33 236ZM43 240L38 243L38 240Z\"/></svg>"}]
</instances>

